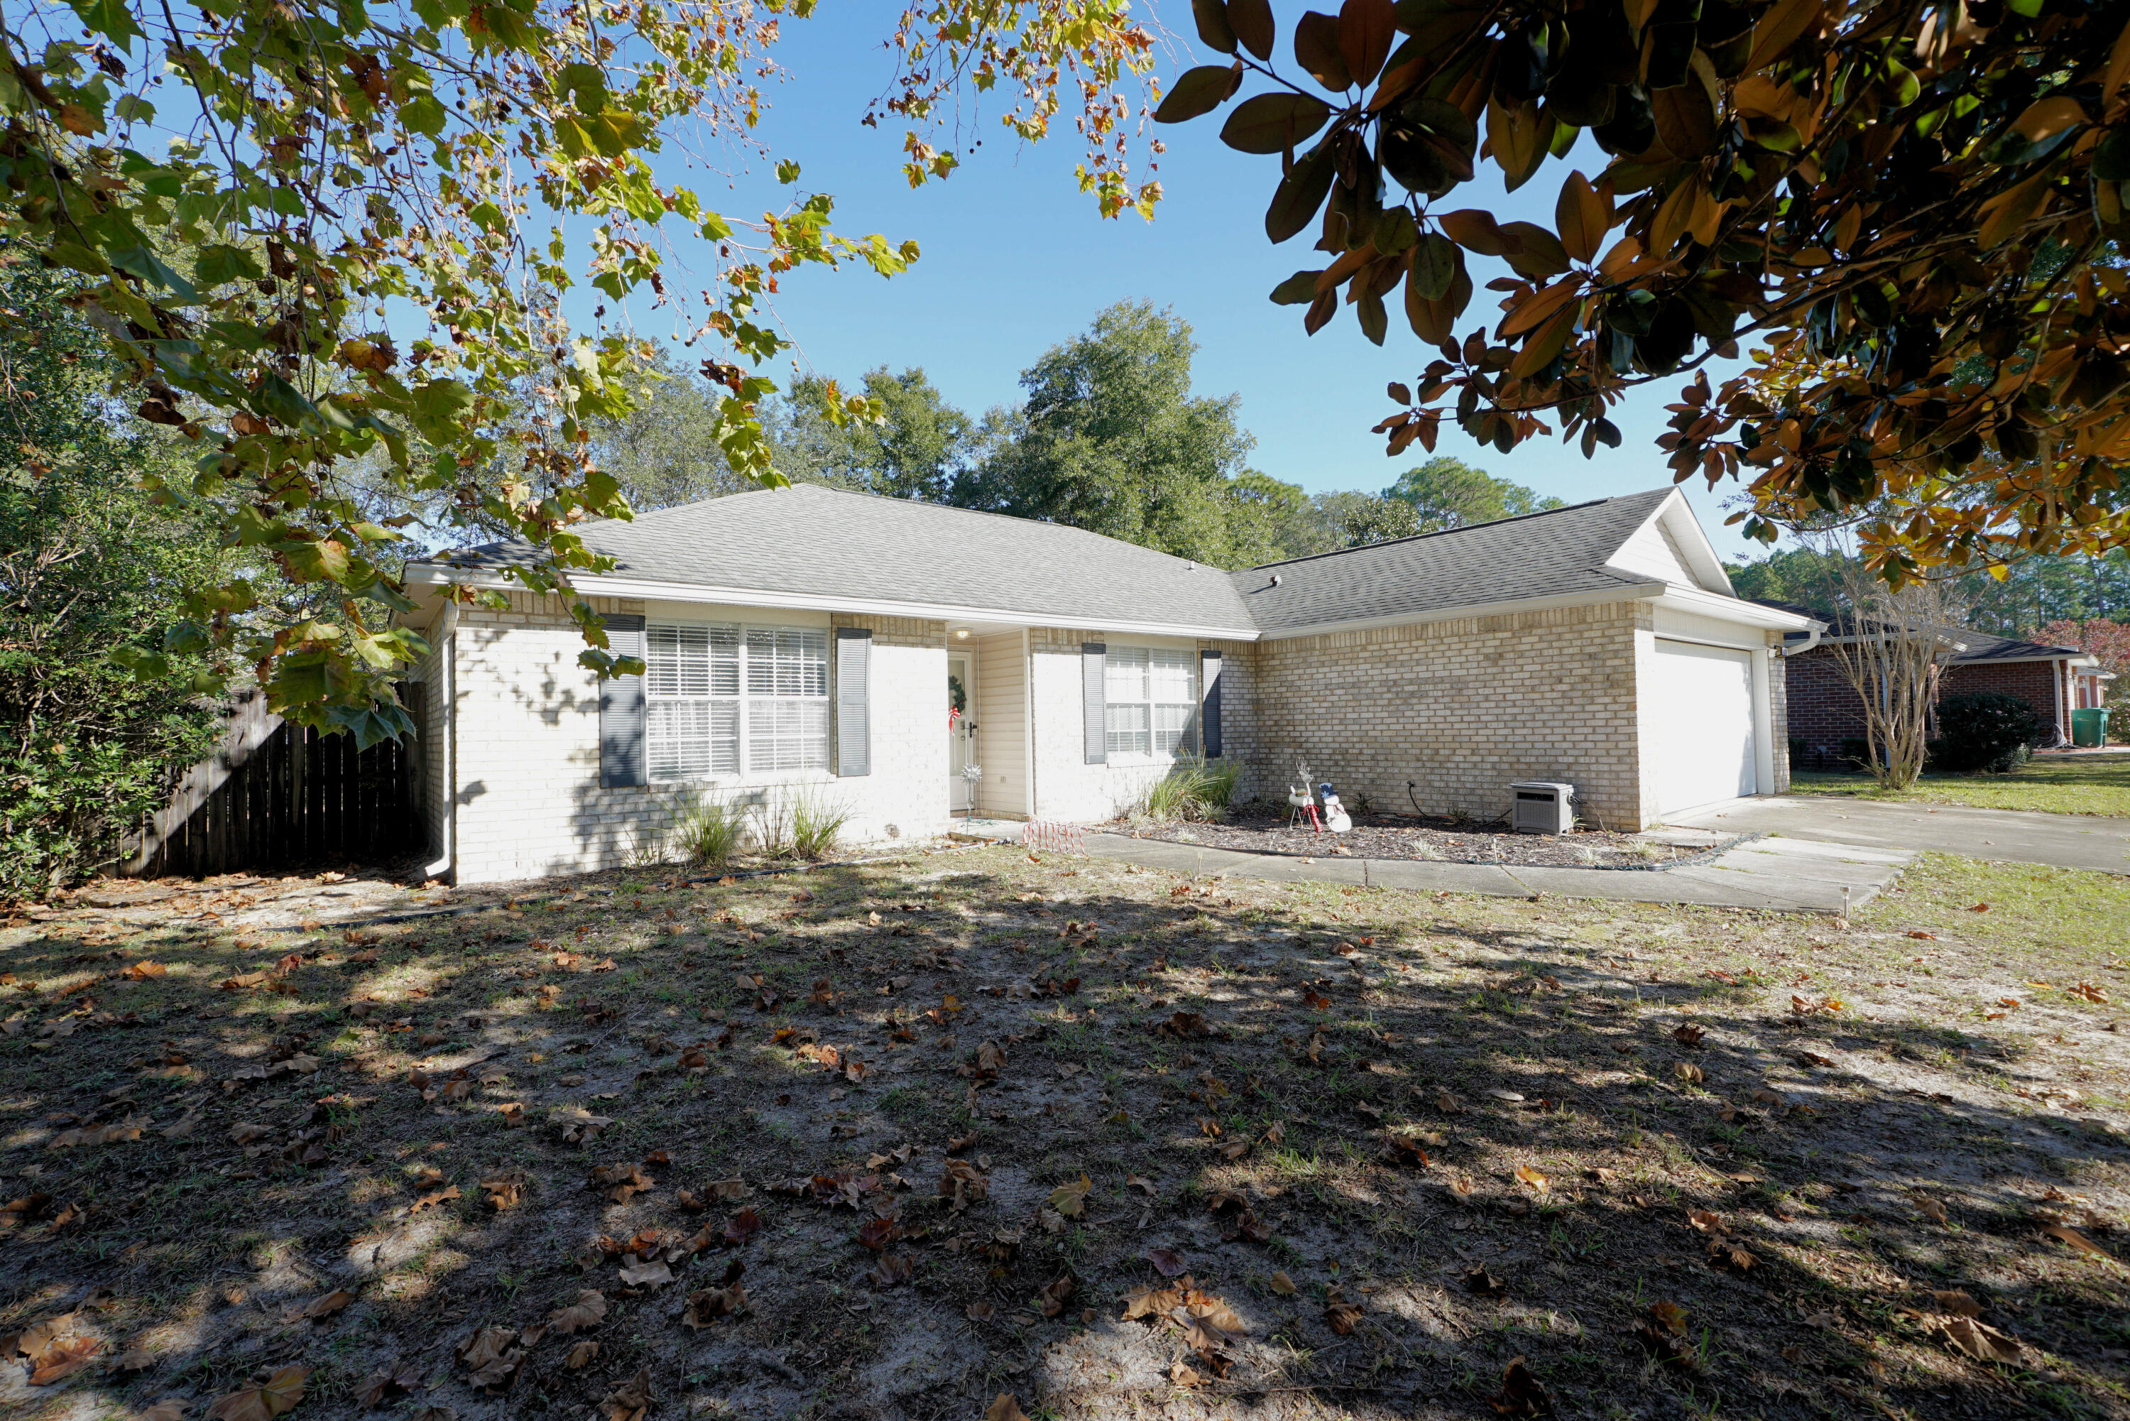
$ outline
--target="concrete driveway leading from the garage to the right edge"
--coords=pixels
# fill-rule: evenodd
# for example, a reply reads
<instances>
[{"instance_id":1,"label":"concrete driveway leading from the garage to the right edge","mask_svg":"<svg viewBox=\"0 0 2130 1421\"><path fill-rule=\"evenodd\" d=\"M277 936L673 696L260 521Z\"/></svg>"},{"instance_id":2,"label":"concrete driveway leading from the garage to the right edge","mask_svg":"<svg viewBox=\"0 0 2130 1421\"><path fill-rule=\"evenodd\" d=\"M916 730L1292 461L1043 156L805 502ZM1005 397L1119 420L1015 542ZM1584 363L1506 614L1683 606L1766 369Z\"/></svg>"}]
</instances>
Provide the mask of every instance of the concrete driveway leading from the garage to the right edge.
<instances>
[{"instance_id":1,"label":"concrete driveway leading from the garage to the right edge","mask_svg":"<svg viewBox=\"0 0 2130 1421\"><path fill-rule=\"evenodd\" d=\"M2009 859L2013 863L2053 863L2062 869L2130 873L2130 818L1785 795L1736 799L1708 810L1672 814L1666 822L1723 833L1757 831L1823 844L1938 850L1968 859Z\"/></svg>"}]
</instances>

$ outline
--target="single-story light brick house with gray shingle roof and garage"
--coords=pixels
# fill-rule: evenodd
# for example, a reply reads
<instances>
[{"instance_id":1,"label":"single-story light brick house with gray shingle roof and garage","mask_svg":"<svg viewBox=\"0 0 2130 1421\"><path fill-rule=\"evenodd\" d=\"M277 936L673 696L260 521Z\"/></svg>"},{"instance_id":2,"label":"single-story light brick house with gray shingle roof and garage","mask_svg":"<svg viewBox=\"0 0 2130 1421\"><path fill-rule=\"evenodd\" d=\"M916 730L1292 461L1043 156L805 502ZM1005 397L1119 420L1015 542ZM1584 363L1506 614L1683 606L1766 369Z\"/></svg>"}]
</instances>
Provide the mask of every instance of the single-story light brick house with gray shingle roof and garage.
<instances>
[{"instance_id":1,"label":"single-story light brick house with gray shingle roof and garage","mask_svg":"<svg viewBox=\"0 0 2130 1421\"><path fill-rule=\"evenodd\" d=\"M594 522L599 680L496 543L415 562L422 801L460 882L628 863L694 797L833 803L852 842L956 814L1095 822L1180 756L1348 805L1587 822L1787 786L1776 652L1670 488L1231 573L1061 524L797 486ZM445 582L507 609L443 597Z\"/></svg>"}]
</instances>

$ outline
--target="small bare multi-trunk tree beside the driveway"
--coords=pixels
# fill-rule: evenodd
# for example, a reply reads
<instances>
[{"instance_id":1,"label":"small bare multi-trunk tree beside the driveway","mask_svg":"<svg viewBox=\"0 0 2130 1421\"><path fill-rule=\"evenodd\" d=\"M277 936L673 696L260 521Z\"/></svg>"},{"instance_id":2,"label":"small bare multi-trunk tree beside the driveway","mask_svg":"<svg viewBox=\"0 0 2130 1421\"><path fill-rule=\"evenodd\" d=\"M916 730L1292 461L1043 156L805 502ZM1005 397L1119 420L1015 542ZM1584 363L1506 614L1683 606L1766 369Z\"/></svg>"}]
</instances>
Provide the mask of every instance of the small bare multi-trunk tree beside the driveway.
<instances>
[{"instance_id":1,"label":"small bare multi-trunk tree beside the driveway","mask_svg":"<svg viewBox=\"0 0 2130 1421\"><path fill-rule=\"evenodd\" d=\"M1840 614L1825 648L1862 703L1866 769L1881 788L1904 790L1923 773L1938 675L1957 648L1951 588L1945 582L1894 588L1849 550L1823 552L1830 554L1821 560L1825 599Z\"/></svg>"}]
</instances>

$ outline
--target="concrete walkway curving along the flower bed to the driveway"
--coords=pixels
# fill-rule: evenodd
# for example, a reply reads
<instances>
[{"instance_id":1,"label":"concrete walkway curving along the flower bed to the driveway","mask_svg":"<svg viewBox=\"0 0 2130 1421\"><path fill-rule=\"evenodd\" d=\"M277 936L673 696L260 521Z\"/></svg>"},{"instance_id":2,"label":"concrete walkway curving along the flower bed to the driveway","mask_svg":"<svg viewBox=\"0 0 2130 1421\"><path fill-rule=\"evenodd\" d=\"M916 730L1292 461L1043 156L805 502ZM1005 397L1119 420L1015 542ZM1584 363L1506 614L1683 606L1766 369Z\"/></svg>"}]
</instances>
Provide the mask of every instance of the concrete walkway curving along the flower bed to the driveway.
<instances>
[{"instance_id":1,"label":"concrete walkway curving along the flower bed to the driveway","mask_svg":"<svg viewBox=\"0 0 2130 1421\"><path fill-rule=\"evenodd\" d=\"M1806 839L1753 839L1698 867L1685 869L1534 869L1493 863L1429 863L1425 859L1314 861L1242 854L1120 833L1088 833L1086 852L1176 873L1235 873L1269 882L1331 882L1370 888L1482 893L1625 903L1706 903L1710 908L1774 908L1789 912L1842 912L1868 903L1915 854L1885 848L1849 848Z\"/></svg>"}]
</instances>

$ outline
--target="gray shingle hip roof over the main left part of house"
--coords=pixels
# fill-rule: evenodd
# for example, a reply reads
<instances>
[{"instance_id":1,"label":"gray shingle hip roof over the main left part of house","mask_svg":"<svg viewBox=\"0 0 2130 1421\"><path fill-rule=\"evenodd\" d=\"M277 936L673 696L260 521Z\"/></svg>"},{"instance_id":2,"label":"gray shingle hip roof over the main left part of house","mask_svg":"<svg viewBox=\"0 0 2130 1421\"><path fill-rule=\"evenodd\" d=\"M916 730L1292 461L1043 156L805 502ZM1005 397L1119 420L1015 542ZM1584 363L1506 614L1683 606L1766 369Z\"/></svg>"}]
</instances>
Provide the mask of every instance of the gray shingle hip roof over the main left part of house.
<instances>
[{"instance_id":1,"label":"gray shingle hip roof over the main left part of house","mask_svg":"<svg viewBox=\"0 0 2130 1421\"><path fill-rule=\"evenodd\" d=\"M1061 626L1252 626L1216 567L1065 524L816 484L588 522L579 533L616 560L605 577L980 607ZM430 562L501 569L526 554L524 543L488 543Z\"/></svg>"}]
</instances>

